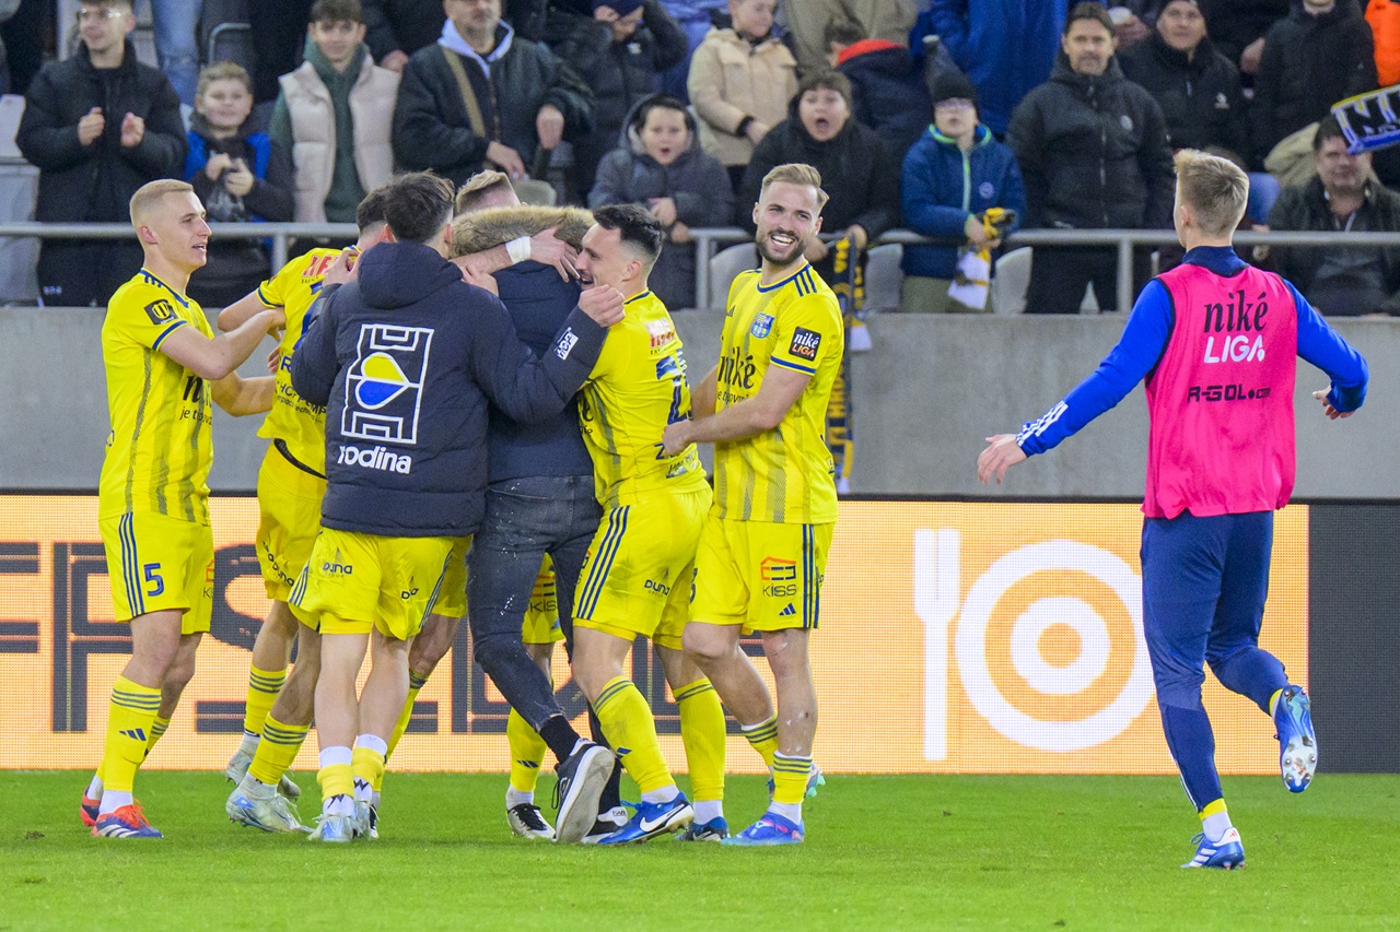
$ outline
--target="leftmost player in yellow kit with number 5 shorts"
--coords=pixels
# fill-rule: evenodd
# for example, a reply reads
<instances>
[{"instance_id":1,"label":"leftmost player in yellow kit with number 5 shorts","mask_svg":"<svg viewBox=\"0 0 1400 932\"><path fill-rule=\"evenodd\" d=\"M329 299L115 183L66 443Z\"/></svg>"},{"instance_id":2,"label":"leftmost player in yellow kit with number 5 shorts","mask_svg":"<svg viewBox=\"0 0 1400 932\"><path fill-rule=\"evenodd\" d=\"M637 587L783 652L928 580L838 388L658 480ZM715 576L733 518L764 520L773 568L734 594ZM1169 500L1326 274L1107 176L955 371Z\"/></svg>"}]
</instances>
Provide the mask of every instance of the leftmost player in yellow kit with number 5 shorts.
<instances>
[{"instance_id":1,"label":"leftmost player in yellow kit with number 5 shorts","mask_svg":"<svg viewBox=\"0 0 1400 932\"><path fill-rule=\"evenodd\" d=\"M209 224L193 188L155 181L132 197L141 270L102 323L108 437L98 523L118 621L132 626L132 659L112 686L102 763L83 798L94 835L160 838L132 798L136 771L164 733L195 673L213 609L209 528L213 407L255 414L272 406L272 379L234 369L281 326L265 311L220 337L185 297L206 262Z\"/></svg>"}]
</instances>

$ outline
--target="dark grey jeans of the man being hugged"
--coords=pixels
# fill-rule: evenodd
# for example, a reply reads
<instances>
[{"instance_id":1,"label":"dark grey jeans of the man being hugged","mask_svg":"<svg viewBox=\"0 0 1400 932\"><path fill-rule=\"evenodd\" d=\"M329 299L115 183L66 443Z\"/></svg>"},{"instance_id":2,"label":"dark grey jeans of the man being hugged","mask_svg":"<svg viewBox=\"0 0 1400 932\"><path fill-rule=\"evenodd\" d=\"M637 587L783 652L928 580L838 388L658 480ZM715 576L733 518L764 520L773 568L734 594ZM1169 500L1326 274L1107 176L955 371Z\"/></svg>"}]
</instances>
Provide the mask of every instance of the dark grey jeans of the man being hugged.
<instances>
[{"instance_id":1,"label":"dark grey jeans of the man being hugged","mask_svg":"<svg viewBox=\"0 0 1400 932\"><path fill-rule=\"evenodd\" d=\"M592 476L536 476L486 490L486 518L468 558L468 623L475 659L531 728L561 715L554 687L521 644L539 565L554 561L559 620L574 644L574 589L602 508Z\"/></svg>"}]
</instances>

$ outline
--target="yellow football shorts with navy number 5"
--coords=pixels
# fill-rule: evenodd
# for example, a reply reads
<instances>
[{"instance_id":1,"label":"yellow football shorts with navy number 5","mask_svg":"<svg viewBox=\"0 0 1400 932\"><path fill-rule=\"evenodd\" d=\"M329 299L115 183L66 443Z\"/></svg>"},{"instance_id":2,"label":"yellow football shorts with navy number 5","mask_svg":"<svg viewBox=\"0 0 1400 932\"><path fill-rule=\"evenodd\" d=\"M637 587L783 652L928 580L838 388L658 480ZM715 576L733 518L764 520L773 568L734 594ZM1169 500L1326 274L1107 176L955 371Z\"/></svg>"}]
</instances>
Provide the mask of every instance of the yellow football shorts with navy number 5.
<instances>
[{"instance_id":1,"label":"yellow football shorts with navy number 5","mask_svg":"<svg viewBox=\"0 0 1400 932\"><path fill-rule=\"evenodd\" d=\"M181 634L209 631L214 610L214 533L154 512L98 522L118 621L181 609Z\"/></svg>"}]
</instances>

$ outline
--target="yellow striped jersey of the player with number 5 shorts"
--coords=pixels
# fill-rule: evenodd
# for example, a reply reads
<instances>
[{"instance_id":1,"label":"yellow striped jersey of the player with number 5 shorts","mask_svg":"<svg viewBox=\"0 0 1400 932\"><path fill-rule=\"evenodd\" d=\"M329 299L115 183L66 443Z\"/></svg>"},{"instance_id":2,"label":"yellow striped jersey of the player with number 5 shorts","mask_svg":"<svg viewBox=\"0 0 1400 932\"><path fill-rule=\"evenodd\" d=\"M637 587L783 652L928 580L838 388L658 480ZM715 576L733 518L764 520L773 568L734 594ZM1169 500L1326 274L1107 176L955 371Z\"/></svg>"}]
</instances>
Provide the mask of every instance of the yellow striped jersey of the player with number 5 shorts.
<instances>
[{"instance_id":1,"label":"yellow striped jersey of the player with number 5 shorts","mask_svg":"<svg viewBox=\"0 0 1400 932\"><path fill-rule=\"evenodd\" d=\"M204 311L141 269L112 295L102 322L102 365L112 432L98 516L155 512L209 523L214 462L209 382L160 351L183 326L207 337Z\"/></svg>"}]
</instances>

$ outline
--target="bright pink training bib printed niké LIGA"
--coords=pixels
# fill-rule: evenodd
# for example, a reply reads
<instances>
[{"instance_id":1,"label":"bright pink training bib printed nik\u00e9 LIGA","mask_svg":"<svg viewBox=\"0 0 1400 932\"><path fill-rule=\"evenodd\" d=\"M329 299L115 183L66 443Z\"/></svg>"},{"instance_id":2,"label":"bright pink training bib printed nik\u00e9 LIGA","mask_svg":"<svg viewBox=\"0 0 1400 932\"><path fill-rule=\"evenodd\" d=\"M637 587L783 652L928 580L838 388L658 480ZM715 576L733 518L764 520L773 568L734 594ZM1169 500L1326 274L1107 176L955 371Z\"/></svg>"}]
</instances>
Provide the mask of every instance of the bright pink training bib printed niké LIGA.
<instances>
[{"instance_id":1,"label":"bright pink training bib printed nik\u00e9 LIGA","mask_svg":"<svg viewBox=\"0 0 1400 932\"><path fill-rule=\"evenodd\" d=\"M1175 323L1147 381L1142 514L1274 511L1294 491L1298 308L1278 276L1183 264L1159 278Z\"/></svg>"}]
</instances>

